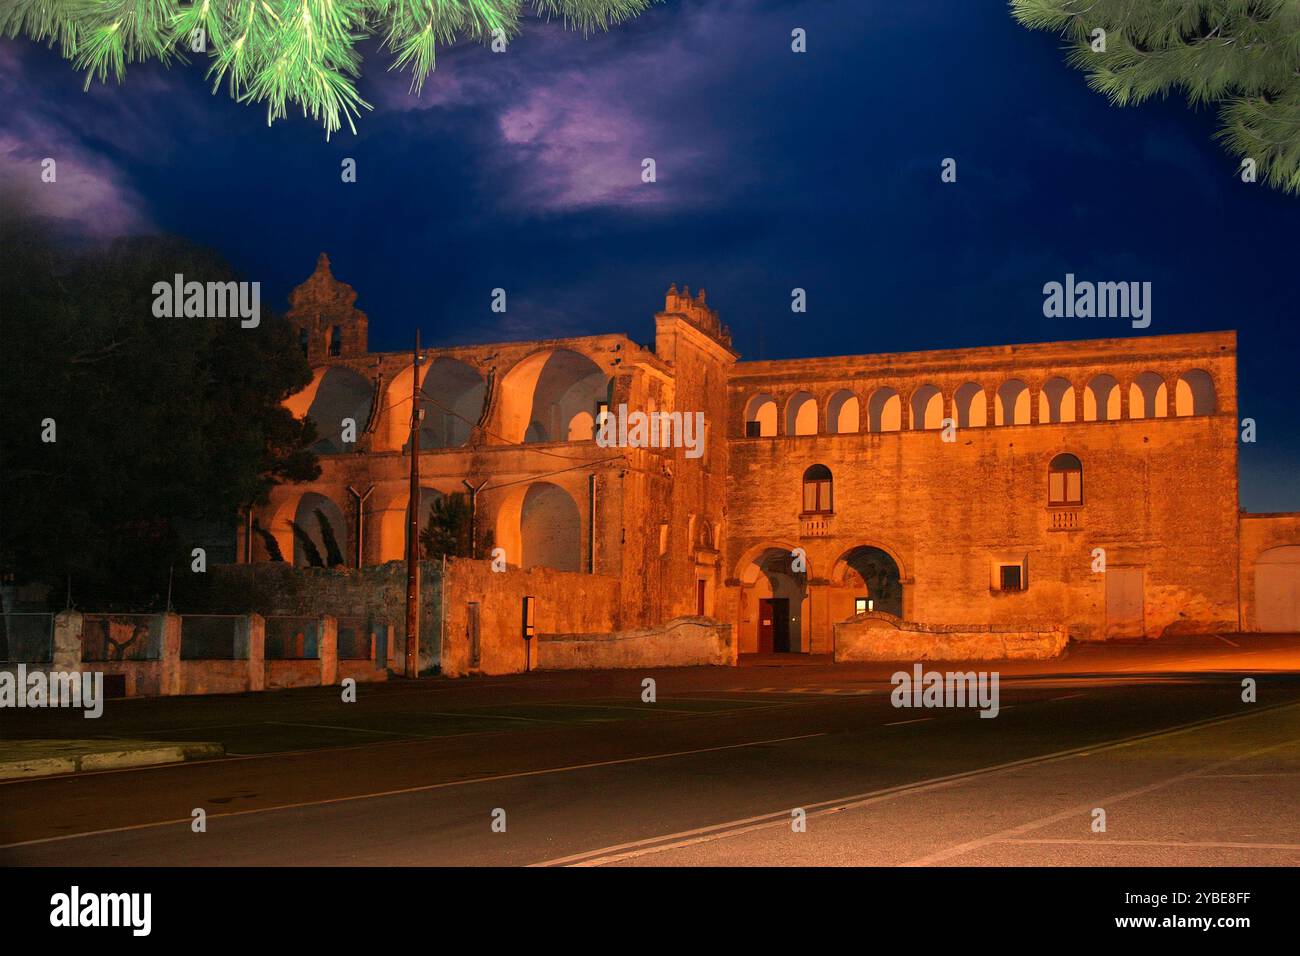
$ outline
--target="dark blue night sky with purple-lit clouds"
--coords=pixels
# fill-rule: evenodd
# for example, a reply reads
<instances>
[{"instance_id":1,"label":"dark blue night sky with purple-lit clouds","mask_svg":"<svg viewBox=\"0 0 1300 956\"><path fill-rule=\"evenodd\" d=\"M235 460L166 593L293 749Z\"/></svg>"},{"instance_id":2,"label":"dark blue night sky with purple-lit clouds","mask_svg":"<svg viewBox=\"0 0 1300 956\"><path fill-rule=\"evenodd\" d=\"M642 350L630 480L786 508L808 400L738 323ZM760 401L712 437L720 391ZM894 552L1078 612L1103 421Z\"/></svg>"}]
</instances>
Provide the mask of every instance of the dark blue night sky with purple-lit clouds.
<instances>
[{"instance_id":1,"label":"dark blue night sky with purple-lit clouds","mask_svg":"<svg viewBox=\"0 0 1300 956\"><path fill-rule=\"evenodd\" d=\"M1239 181L1213 111L1109 107L1001 3L675 0L589 39L529 22L507 53L439 53L419 99L367 53L376 108L325 142L198 68L84 94L0 42L0 173L60 159L49 212L209 245L277 308L325 250L380 350L416 325L649 341L673 281L708 290L746 358L1238 329L1243 505L1300 510L1300 199ZM1067 272L1152 282L1150 328L1045 319Z\"/></svg>"}]
</instances>

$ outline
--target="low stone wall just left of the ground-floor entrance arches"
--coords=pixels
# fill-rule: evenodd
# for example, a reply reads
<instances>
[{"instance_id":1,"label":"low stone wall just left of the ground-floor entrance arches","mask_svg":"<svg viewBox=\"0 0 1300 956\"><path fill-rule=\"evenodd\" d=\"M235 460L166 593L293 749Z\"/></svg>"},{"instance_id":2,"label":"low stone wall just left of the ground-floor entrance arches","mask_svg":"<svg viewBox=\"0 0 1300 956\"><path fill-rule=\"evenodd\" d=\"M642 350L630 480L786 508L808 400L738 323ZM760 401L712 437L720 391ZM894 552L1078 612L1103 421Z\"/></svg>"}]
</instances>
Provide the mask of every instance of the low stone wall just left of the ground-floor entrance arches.
<instances>
[{"instance_id":1,"label":"low stone wall just left of the ground-floor entrance arches","mask_svg":"<svg viewBox=\"0 0 1300 956\"><path fill-rule=\"evenodd\" d=\"M734 666L736 656L731 624L710 618L675 618L615 633L537 637L538 670Z\"/></svg>"}]
</instances>

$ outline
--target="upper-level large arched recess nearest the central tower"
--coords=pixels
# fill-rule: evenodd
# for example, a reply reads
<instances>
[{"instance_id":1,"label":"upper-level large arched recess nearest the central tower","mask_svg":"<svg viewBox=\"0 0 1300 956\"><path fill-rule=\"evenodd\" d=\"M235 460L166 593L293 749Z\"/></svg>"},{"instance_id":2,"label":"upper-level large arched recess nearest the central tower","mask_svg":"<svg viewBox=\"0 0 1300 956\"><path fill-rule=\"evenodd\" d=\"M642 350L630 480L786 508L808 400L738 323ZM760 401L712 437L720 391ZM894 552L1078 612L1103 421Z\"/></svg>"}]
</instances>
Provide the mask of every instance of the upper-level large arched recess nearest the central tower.
<instances>
[{"instance_id":1,"label":"upper-level large arched recess nearest the central tower","mask_svg":"<svg viewBox=\"0 0 1300 956\"><path fill-rule=\"evenodd\" d=\"M500 434L511 442L571 441L578 416L585 412L594 421L611 389L610 377L586 355L571 349L533 352L502 377Z\"/></svg>"}]
</instances>

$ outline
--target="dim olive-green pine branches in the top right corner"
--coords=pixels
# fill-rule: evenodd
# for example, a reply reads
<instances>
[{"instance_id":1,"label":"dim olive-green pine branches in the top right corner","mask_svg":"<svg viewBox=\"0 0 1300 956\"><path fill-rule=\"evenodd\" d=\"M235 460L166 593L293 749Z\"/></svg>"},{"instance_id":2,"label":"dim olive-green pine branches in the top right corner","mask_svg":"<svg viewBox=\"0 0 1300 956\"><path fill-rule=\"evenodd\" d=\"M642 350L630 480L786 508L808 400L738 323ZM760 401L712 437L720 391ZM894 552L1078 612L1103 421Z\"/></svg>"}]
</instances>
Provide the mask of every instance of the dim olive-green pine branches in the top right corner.
<instances>
[{"instance_id":1,"label":"dim olive-green pine branches in the top right corner","mask_svg":"<svg viewBox=\"0 0 1300 956\"><path fill-rule=\"evenodd\" d=\"M1270 186L1300 193L1300 4L1295 0L1011 0L1115 105L1180 92L1219 107L1216 138Z\"/></svg>"}]
</instances>

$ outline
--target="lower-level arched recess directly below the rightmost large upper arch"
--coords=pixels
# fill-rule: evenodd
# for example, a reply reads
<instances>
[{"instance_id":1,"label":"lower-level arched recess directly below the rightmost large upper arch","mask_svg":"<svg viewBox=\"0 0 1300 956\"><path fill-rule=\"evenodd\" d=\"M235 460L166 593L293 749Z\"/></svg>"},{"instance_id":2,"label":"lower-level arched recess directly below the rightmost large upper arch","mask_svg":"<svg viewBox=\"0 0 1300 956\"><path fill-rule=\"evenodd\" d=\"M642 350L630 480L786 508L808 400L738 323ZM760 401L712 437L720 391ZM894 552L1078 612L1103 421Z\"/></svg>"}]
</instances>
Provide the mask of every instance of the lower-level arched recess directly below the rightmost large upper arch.
<instances>
[{"instance_id":1,"label":"lower-level arched recess directly below the rightmost large upper arch","mask_svg":"<svg viewBox=\"0 0 1300 956\"><path fill-rule=\"evenodd\" d=\"M511 564L582 570L582 515L573 497L550 481L511 489L497 512L494 540Z\"/></svg>"}]
</instances>

